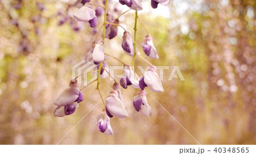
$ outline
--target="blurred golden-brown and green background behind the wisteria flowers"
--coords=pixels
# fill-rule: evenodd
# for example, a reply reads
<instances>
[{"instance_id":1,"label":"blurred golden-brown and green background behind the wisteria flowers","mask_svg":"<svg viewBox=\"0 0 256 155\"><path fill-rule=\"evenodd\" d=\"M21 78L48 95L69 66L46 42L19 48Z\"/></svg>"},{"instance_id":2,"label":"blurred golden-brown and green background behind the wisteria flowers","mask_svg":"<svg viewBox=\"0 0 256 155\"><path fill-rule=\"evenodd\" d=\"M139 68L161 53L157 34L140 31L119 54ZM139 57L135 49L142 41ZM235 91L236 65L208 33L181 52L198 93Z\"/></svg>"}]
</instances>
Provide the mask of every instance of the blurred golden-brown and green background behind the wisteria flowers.
<instances>
[{"instance_id":1,"label":"blurred golden-brown and green background behind the wisteria flowers","mask_svg":"<svg viewBox=\"0 0 256 155\"><path fill-rule=\"evenodd\" d=\"M68 8L68 0L58 2ZM110 5L115 18L129 9L116 2ZM159 59L146 57L156 66L170 66L164 70L164 93L148 93L200 144L255 144L256 2L173 0L158 9L150 1L142 4L139 16L154 44L171 31L156 45ZM138 89L132 87L121 90L129 118L110 120L112 136L96 125L104 107L97 104L96 83L82 90L85 99L75 114L54 117L53 101L68 87L72 66L84 59L94 41L86 31L95 37L103 16L97 28L82 23L85 31L54 0L1 0L0 9L0 144L197 144L151 95L150 118L135 111ZM76 10L68 9L71 14ZM134 17L131 10L119 18L132 37ZM122 35L119 28L105 48L130 64L132 57L121 48ZM138 22L142 56L145 36ZM110 57L106 62L121 65ZM135 65L147 64L136 57ZM168 81L173 66L179 66L185 81ZM108 78L101 81L113 85ZM108 93L105 87L100 90Z\"/></svg>"}]
</instances>

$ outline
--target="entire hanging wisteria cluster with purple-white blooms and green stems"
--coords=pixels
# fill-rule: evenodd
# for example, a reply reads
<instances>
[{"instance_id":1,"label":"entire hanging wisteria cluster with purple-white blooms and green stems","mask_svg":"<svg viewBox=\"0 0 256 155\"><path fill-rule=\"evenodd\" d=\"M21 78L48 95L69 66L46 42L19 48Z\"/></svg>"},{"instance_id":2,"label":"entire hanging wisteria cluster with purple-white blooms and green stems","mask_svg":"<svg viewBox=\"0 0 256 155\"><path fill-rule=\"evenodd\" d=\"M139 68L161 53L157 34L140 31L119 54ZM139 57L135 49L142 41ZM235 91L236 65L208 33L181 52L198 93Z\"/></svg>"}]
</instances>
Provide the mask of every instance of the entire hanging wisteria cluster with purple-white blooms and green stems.
<instances>
[{"instance_id":1,"label":"entire hanging wisteria cluster with purple-white blooms and green stems","mask_svg":"<svg viewBox=\"0 0 256 155\"><path fill-rule=\"evenodd\" d=\"M101 96L98 85L104 84L100 82L100 78L106 78L110 76L109 66L105 62L105 55L108 56L108 54L105 53L104 50L104 41L105 39L113 39L115 36L117 36L118 27L122 27L119 24L119 17L114 18L114 15L111 13L112 11L117 11L120 9L115 7L114 10L110 10L108 7L108 4L110 2L108 0L103 1L102 4L93 3L90 0L76 1L73 5L71 5L70 3L71 2L69 2L68 4L68 8L70 8L71 6L79 8L77 11L73 12L72 18L77 20L76 22L89 23L90 27L96 27L99 23L98 17L104 15L104 22L100 30L98 31L96 40L92 44L92 49L90 49L90 51L85 56L86 61L91 61L95 65L97 65L97 68L95 68L95 72L97 72L98 74L98 78L97 80L95 80L97 81L96 89ZM148 66L148 69L146 70L144 75L141 78L138 78L131 65L127 65L122 61L118 60L118 58L113 57L119 62L122 62L123 77L120 79L119 83L114 80L113 87L110 88L109 97L106 98L105 101L101 96L102 102L104 103L104 108L97 116L97 125L99 131L105 133L106 135L113 135L113 130L110 125L110 118L113 118L113 116L115 116L117 118L123 119L129 116L128 112L125 109L125 103L122 99L121 86L124 89L127 89L128 86L132 86L134 87L134 89L139 89L137 95L133 99L133 105L136 111L141 112L148 118L150 117L151 107L147 102L147 91L145 90L145 88L148 87L148 89L154 91L155 93L164 91L162 83L160 82L159 75L156 72L156 67L150 62L146 61L140 55L140 53L137 52L136 48L135 36L137 32L137 19L139 19L139 21L142 23L141 19L138 16L138 11L143 10L142 0L119 0L119 3L121 3L121 5L126 5L131 10L135 10L134 40L131 37L131 33L126 31L125 28L122 27L125 32L123 33L121 47L128 56L133 57L133 62L131 62L132 65L134 65L135 57L138 56L142 58L143 61L150 64L150 66ZM168 5L170 3L170 0L151 0L152 8L156 9L159 3L161 5ZM114 4L114 6L118 5ZM128 11L123 12L119 16L125 14ZM66 16L63 21L60 21L59 25L65 23L65 20L67 19L68 18ZM146 27L143 23L142 25L146 30ZM100 37L99 34L101 33L102 28L103 33L102 37ZM147 30L146 32L147 35L144 38L144 42L142 44L143 51L148 57L159 58L154 43L152 41L152 37ZM79 103L82 102L82 100L84 99L81 90L79 89L76 78L71 80L71 82L69 83L69 88L64 90L63 93L61 93L59 97L57 97L55 102L53 102L53 104L57 106L54 111L55 116L63 117L73 114L76 111L77 107L79 107Z\"/></svg>"}]
</instances>

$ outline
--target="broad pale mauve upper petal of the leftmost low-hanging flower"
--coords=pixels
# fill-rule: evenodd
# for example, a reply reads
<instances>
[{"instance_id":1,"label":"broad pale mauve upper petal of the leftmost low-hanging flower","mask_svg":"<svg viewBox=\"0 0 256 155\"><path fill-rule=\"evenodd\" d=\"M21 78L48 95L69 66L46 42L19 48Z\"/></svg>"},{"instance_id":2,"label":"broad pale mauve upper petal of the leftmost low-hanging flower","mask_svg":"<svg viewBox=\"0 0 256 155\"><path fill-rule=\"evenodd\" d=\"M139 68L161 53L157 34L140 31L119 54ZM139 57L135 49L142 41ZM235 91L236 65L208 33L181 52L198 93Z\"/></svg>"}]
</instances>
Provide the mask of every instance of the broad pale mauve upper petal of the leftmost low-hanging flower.
<instances>
[{"instance_id":1,"label":"broad pale mauve upper petal of the leftmost low-hanging flower","mask_svg":"<svg viewBox=\"0 0 256 155\"><path fill-rule=\"evenodd\" d=\"M53 102L56 106L65 106L72 104L79 97L80 90L78 87L69 87L64 90L59 97Z\"/></svg>"}]
</instances>

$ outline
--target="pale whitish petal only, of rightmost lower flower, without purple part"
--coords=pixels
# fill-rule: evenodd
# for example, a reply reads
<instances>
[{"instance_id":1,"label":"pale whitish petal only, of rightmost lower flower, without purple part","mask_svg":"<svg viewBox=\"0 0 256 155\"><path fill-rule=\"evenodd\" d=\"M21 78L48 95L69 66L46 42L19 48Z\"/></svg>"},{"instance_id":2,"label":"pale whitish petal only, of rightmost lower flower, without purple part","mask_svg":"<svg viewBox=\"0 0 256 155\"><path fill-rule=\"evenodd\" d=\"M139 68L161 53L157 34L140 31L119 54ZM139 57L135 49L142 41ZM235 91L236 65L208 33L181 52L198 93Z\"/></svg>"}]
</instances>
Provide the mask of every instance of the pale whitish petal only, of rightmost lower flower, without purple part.
<instances>
[{"instance_id":1,"label":"pale whitish petal only, of rightmost lower flower, without purple part","mask_svg":"<svg viewBox=\"0 0 256 155\"><path fill-rule=\"evenodd\" d=\"M154 66L155 68L155 66ZM154 72L153 69L148 70L144 73L144 83L148 86L148 88L155 93L163 92L163 86L160 82L160 78L156 72Z\"/></svg>"}]
</instances>

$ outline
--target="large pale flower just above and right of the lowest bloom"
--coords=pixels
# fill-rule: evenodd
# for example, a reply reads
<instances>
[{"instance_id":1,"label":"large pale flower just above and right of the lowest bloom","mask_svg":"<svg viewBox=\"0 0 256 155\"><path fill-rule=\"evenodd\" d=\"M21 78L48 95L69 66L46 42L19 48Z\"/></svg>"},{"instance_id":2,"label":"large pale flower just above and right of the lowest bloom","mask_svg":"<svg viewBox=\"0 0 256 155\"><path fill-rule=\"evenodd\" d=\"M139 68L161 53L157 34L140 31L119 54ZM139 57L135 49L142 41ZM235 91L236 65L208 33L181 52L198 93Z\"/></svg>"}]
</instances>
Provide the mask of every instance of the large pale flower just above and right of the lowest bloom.
<instances>
[{"instance_id":1,"label":"large pale flower just above and right of the lowest bloom","mask_svg":"<svg viewBox=\"0 0 256 155\"><path fill-rule=\"evenodd\" d=\"M110 95L106 99L106 108L109 114L111 114L112 116L115 116L118 118L127 118L129 116L121 100L118 98L117 90L113 89L110 91Z\"/></svg>"}]
</instances>

